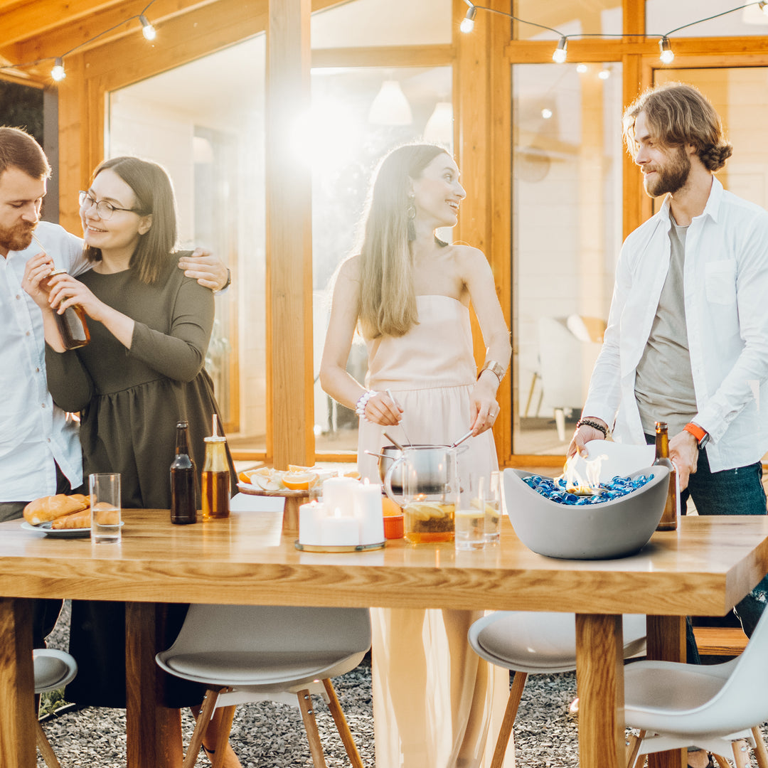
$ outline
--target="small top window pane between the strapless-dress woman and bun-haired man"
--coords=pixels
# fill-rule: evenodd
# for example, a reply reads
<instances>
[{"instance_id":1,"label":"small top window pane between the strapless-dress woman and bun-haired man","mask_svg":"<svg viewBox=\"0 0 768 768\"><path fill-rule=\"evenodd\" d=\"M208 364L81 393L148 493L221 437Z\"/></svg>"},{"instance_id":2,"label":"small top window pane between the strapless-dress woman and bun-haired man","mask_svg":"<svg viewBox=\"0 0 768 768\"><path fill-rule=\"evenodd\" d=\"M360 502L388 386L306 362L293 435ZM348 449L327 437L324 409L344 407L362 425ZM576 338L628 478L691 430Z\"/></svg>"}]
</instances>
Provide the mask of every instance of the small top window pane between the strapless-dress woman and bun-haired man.
<instances>
[{"instance_id":1,"label":"small top window pane between the strapless-dress woman and bun-haired man","mask_svg":"<svg viewBox=\"0 0 768 768\"><path fill-rule=\"evenodd\" d=\"M481 14L478 10L475 23ZM541 0L518 0L515 2L515 16L526 22L551 27L556 31L541 29L534 24L515 23L516 40L557 40L561 35L584 35L602 33L621 35L621 0L577 0L577 2L541 2ZM502 18L491 14L488 23L502 23ZM495 19L492 22L492 19Z\"/></svg>"}]
</instances>

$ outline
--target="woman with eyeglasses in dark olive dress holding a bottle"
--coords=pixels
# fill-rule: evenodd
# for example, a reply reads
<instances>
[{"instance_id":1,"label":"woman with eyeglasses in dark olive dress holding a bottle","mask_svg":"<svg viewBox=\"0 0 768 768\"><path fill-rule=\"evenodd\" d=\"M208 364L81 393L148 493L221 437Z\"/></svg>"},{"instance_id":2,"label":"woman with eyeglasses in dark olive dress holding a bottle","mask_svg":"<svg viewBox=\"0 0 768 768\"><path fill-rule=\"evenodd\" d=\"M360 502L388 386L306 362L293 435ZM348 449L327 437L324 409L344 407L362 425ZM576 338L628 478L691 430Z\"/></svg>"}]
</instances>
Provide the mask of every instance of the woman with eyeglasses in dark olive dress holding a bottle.
<instances>
[{"instance_id":1,"label":"woman with eyeglasses in dark olive dress holding a bottle","mask_svg":"<svg viewBox=\"0 0 768 768\"><path fill-rule=\"evenodd\" d=\"M30 293L44 314L48 388L62 409L81 412L84 475L120 472L125 508L167 509L177 422L189 424L200 469L219 412L204 370L214 296L177 269L174 193L162 167L136 157L104 161L80 204L92 269L78 279L51 277L47 301L33 293L44 275L31 274ZM91 343L65 352L54 312L74 305L88 315ZM230 474L235 487L231 458ZM168 644L185 613L186 606L170 607ZM124 604L73 603L70 650L80 674L68 700L125 706L124 638ZM167 677L165 694L167 706L184 707L199 705L204 691ZM215 734L208 738L213 748ZM240 766L231 748L223 764Z\"/></svg>"}]
</instances>

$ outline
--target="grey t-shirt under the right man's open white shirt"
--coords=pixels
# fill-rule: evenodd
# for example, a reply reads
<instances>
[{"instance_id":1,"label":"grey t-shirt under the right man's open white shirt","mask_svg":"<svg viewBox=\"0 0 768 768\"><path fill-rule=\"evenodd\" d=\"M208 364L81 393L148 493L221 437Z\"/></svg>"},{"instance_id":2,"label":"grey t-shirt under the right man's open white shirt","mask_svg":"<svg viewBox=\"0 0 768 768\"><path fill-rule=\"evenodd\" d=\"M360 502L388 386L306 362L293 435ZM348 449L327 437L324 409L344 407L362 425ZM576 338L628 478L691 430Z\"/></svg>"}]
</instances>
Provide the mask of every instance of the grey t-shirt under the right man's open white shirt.
<instances>
[{"instance_id":1,"label":"grey t-shirt under the right man's open white shirt","mask_svg":"<svg viewBox=\"0 0 768 768\"><path fill-rule=\"evenodd\" d=\"M670 436L677 435L698 411L690 372L683 293L687 227L678 226L671 212L670 220L667 280L634 381L634 396L647 435L654 434L655 422L667 422Z\"/></svg>"}]
</instances>

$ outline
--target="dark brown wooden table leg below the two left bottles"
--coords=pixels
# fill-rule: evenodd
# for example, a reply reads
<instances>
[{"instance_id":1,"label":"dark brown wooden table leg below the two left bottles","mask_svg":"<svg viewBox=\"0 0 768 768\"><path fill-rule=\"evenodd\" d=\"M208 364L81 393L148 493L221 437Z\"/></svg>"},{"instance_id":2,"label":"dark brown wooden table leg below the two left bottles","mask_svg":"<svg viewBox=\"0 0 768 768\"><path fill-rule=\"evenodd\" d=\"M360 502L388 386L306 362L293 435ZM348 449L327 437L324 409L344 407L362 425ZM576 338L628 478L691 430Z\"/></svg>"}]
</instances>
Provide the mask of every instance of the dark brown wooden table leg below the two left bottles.
<instances>
[{"instance_id":1,"label":"dark brown wooden table leg below the two left bottles","mask_svg":"<svg viewBox=\"0 0 768 768\"><path fill-rule=\"evenodd\" d=\"M164 624L164 606L125 604L125 683L128 768L181 768L179 710L161 703L154 660Z\"/></svg>"}]
</instances>

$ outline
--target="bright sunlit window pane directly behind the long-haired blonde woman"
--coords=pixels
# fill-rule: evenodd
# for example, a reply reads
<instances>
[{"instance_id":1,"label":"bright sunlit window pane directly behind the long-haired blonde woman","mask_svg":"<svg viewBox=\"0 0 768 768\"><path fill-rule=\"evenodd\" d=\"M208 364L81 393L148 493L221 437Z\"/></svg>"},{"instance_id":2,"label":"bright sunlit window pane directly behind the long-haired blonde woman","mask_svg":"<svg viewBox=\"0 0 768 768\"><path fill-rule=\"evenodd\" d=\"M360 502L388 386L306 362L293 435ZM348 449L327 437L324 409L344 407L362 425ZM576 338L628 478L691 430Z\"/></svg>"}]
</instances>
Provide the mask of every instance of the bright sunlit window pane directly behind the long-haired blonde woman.
<instances>
[{"instance_id":1,"label":"bright sunlit window pane directly behind the long-haired blonde woman","mask_svg":"<svg viewBox=\"0 0 768 768\"><path fill-rule=\"evenodd\" d=\"M409 104L412 117L406 124L381 122L395 114L397 104L384 104L379 118L372 112L382 83L393 78ZM318 452L357 449L357 416L333 402L317 381L333 273L355 253L369 178L379 157L422 137L451 149L451 81L450 67L399 68L394 73L377 68L313 71L314 429ZM450 230L445 237L450 237ZM347 369L361 383L367 362L366 347L356 337Z\"/></svg>"}]
</instances>

